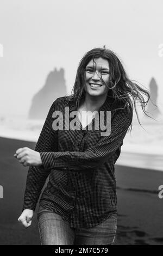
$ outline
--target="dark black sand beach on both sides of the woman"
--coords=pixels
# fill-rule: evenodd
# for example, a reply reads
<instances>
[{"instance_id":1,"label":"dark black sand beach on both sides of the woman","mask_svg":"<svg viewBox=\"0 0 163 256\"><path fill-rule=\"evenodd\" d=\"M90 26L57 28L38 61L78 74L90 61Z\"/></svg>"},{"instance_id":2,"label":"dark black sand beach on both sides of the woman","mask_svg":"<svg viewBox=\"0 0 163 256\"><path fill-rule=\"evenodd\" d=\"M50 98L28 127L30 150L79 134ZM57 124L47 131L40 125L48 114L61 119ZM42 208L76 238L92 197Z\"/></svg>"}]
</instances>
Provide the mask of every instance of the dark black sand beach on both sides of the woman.
<instances>
[{"instance_id":1,"label":"dark black sand beach on both sides of the woman","mask_svg":"<svg viewBox=\"0 0 163 256\"><path fill-rule=\"evenodd\" d=\"M22 212L29 167L23 167L13 155L22 147L34 149L35 143L0 138L0 185L3 186L0 245L40 245L36 212L28 229L17 221ZM116 165L115 174L118 197L115 245L163 245L163 199L158 197L163 172Z\"/></svg>"}]
</instances>

